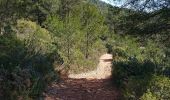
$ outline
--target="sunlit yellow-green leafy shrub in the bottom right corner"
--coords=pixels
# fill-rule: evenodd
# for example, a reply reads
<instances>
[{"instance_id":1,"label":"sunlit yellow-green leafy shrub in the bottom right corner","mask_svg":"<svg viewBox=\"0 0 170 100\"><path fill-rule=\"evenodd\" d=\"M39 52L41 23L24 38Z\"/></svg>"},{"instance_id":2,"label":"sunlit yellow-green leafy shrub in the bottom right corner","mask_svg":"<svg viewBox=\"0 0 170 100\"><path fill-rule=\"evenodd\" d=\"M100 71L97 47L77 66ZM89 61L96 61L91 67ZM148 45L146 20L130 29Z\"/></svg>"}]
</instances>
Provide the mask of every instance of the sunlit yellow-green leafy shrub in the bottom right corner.
<instances>
[{"instance_id":1,"label":"sunlit yellow-green leafy shrub in the bottom right corner","mask_svg":"<svg viewBox=\"0 0 170 100\"><path fill-rule=\"evenodd\" d=\"M165 76L153 76L141 100L168 100L170 99L169 94L170 79Z\"/></svg>"}]
</instances>

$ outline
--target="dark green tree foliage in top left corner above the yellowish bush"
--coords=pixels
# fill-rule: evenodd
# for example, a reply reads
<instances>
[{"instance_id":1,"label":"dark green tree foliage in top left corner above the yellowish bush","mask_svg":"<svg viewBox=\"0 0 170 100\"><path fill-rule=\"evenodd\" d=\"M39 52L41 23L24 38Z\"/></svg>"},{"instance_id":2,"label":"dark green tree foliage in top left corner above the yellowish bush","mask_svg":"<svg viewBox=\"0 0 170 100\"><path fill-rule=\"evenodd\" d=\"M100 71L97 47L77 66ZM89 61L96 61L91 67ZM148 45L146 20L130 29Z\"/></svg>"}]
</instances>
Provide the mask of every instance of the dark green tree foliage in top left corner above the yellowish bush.
<instances>
[{"instance_id":1,"label":"dark green tree foliage in top left corner above the yellowish bush","mask_svg":"<svg viewBox=\"0 0 170 100\"><path fill-rule=\"evenodd\" d=\"M0 26L14 25L17 19L31 19L40 25L46 16L56 14L60 0L0 0ZM0 28L0 31L1 31Z\"/></svg>"}]
</instances>

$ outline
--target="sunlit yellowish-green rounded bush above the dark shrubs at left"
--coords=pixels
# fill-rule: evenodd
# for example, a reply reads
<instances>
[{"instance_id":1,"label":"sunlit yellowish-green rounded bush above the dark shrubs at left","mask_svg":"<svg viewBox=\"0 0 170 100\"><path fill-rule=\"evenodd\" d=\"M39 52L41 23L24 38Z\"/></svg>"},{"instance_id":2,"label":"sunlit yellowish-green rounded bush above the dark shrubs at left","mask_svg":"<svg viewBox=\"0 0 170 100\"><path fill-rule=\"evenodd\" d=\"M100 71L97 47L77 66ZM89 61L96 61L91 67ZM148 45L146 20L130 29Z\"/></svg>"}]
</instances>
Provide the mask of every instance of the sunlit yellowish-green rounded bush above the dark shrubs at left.
<instances>
[{"instance_id":1,"label":"sunlit yellowish-green rounded bush above the dark shrubs at left","mask_svg":"<svg viewBox=\"0 0 170 100\"><path fill-rule=\"evenodd\" d=\"M20 38L35 53L51 53L55 50L50 33L35 22L18 20L17 37Z\"/></svg>"}]
</instances>

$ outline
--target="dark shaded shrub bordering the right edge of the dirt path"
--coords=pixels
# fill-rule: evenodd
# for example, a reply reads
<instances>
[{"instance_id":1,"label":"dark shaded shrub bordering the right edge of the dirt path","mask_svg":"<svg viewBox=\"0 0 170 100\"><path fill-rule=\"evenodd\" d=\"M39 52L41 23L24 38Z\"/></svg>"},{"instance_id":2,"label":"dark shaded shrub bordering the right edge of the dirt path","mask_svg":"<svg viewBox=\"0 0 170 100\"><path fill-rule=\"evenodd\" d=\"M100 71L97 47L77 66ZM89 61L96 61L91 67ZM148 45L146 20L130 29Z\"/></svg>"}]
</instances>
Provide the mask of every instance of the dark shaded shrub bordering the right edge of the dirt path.
<instances>
[{"instance_id":1,"label":"dark shaded shrub bordering the right edge of the dirt path","mask_svg":"<svg viewBox=\"0 0 170 100\"><path fill-rule=\"evenodd\" d=\"M114 83L123 89L126 98L139 98L147 90L154 73L152 62L130 59L127 62L114 62L113 65Z\"/></svg>"}]
</instances>

